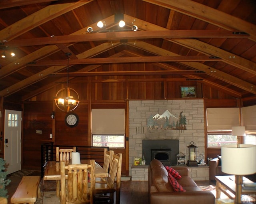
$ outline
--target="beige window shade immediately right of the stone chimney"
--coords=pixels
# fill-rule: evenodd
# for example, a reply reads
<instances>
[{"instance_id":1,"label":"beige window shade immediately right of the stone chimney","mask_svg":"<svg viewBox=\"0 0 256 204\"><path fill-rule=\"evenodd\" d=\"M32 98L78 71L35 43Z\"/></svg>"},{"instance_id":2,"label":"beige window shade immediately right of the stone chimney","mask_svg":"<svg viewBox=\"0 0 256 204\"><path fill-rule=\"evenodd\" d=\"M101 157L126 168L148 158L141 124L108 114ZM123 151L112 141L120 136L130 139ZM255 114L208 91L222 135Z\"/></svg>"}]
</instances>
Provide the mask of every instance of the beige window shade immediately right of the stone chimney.
<instances>
[{"instance_id":1,"label":"beige window shade immediately right of the stone chimney","mask_svg":"<svg viewBox=\"0 0 256 204\"><path fill-rule=\"evenodd\" d=\"M240 126L239 108L208 108L207 131L231 130Z\"/></svg>"}]
</instances>

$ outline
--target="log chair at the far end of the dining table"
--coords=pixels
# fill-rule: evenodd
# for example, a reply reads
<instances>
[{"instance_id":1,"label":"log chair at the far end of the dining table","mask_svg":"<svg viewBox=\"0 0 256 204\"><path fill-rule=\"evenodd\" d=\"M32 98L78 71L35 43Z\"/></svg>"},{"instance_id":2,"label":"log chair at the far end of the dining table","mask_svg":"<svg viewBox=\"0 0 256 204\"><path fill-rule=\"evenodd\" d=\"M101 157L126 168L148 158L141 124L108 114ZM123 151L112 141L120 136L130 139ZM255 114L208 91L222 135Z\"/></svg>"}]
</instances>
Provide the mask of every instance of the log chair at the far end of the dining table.
<instances>
[{"instance_id":1,"label":"log chair at the far end of the dining table","mask_svg":"<svg viewBox=\"0 0 256 204\"><path fill-rule=\"evenodd\" d=\"M76 147L73 147L73 149L60 149L60 147L56 147L56 161L65 161L66 164L69 164L72 152L76 152ZM60 197L59 180L56 181L56 195Z\"/></svg>"}]
</instances>

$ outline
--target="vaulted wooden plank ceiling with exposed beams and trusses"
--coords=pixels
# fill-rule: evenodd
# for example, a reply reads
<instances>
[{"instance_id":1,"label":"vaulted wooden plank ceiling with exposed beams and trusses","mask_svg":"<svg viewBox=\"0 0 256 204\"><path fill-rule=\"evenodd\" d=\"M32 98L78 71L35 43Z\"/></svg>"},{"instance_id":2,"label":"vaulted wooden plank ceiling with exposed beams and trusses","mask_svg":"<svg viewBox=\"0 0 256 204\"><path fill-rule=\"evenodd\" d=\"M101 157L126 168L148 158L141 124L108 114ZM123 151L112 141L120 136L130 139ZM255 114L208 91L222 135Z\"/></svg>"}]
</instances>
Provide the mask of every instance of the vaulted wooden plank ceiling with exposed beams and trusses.
<instances>
[{"instance_id":1,"label":"vaulted wooden plank ceiling with exposed beams and trusses","mask_svg":"<svg viewBox=\"0 0 256 204\"><path fill-rule=\"evenodd\" d=\"M119 14L124 28L115 22ZM99 20L103 28L96 26ZM178 75L255 99L256 1L2 0L4 50L0 97L30 99L63 81L68 64L71 77ZM9 56L12 50L15 57ZM95 71L124 63L153 63L158 69Z\"/></svg>"}]
</instances>

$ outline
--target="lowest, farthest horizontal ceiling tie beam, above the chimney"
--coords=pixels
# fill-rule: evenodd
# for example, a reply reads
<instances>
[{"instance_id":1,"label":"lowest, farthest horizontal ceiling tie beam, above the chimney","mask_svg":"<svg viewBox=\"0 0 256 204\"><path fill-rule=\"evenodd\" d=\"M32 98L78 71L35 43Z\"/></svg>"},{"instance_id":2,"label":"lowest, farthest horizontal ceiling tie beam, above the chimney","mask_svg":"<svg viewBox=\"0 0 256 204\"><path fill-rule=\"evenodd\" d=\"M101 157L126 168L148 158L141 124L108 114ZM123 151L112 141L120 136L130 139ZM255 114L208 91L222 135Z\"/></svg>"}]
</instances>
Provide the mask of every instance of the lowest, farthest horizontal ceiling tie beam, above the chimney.
<instances>
[{"instance_id":1,"label":"lowest, farthest horizontal ceiling tie beam, above the chimney","mask_svg":"<svg viewBox=\"0 0 256 204\"><path fill-rule=\"evenodd\" d=\"M203 71L181 70L181 71L94 71L94 72L71 72L53 73L52 76L64 77L67 74L71 77L84 76L134 76L134 75L191 75L205 74Z\"/></svg>"}]
</instances>

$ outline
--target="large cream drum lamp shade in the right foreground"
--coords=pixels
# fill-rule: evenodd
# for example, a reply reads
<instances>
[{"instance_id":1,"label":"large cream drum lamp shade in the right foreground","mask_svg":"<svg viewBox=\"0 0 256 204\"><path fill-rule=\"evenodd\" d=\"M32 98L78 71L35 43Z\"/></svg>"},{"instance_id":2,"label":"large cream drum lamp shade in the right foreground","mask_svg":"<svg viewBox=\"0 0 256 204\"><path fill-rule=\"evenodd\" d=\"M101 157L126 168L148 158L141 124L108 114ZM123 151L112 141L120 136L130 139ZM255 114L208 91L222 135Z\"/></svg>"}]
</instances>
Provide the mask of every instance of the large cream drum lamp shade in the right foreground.
<instances>
[{"instance_id":1,"label":"large cream drum lamp shade in the right foreground","mask_svg":"<svg viewBox=\"0 0 256 204\"><path fill-rule=\"evenodd\" d=\"M238 144L221 147L222 172L233 175L256 173L256 145Z\"/></svg>"}]
</instances>

